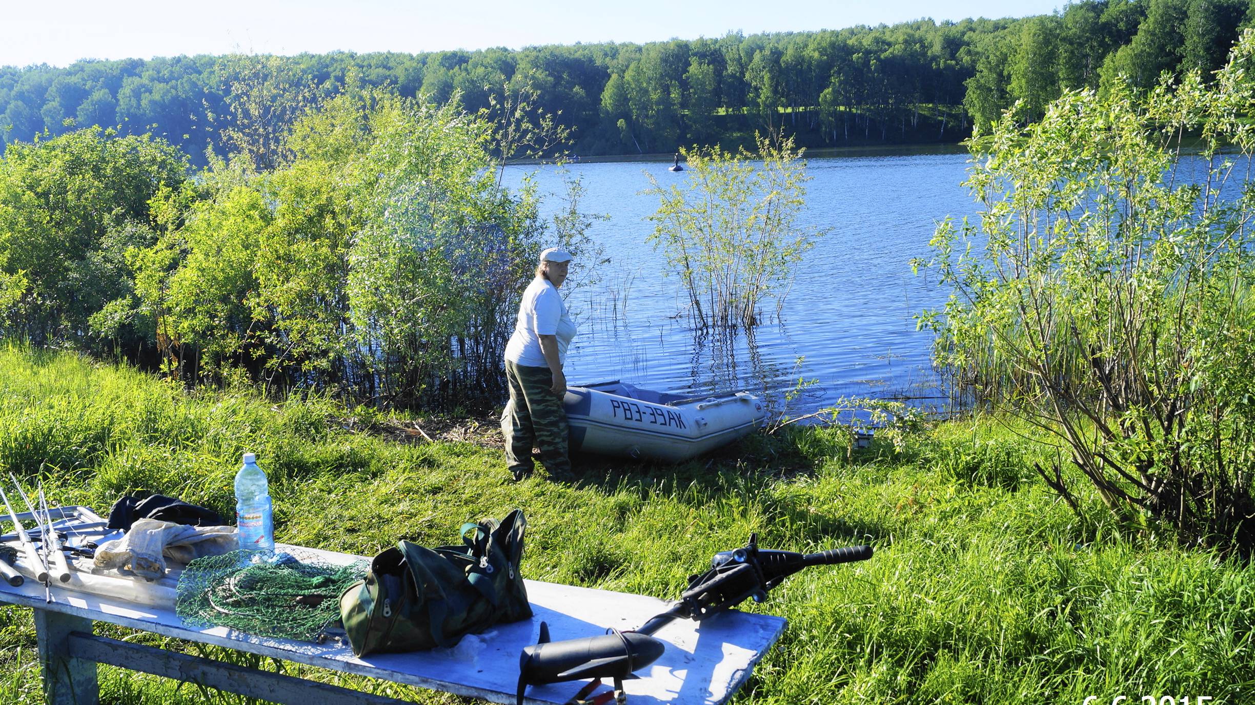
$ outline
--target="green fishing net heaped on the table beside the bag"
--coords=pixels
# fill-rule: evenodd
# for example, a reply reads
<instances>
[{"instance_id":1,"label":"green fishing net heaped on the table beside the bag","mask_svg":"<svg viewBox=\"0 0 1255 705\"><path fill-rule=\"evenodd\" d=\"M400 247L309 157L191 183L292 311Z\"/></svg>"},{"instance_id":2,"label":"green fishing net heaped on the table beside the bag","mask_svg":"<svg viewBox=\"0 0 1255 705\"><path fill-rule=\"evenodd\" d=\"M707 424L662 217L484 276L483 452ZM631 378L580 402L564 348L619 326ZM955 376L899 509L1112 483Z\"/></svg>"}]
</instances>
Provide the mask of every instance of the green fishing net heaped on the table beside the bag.
<instances>
[{"instance_id":1,"label":"green fishing net heaped on the table beside the bag","mask_svg":"<svg viewBox=\"0 0 1255 705\"><path fill-rule=\"evenodd\" d=\"M340 593L366 568L365 561L336 566L299 551L206 556L179 575L174 611L190 626L316 641L340 617Z\"/></svg>"}]
</instances>

